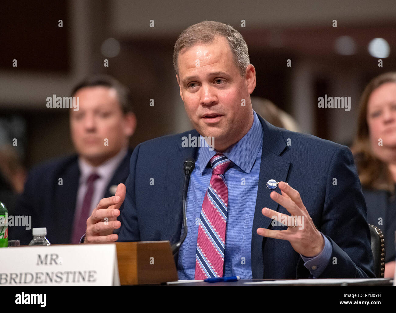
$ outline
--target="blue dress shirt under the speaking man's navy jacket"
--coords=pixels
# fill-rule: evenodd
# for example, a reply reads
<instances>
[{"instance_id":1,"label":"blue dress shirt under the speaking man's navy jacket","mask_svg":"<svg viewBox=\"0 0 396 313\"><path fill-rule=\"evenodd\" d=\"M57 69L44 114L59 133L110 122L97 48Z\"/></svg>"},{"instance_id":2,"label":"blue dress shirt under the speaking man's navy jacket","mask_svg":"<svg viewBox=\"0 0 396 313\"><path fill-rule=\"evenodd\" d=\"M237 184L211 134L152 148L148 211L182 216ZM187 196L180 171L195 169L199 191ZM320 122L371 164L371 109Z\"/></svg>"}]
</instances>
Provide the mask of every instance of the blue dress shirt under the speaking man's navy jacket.
<instances>
[{"instance_id":1,"label":"blue dress shirt under the speaking man's navy jacket","mask_svg":"<svg viewBox=\"0 0 396 313\"><path fill-rule=\"evenodd\" d=\"M252 279L251 234L263 147L263 126L254 111L253 114L253 125L247 134L223 151L223 155L232 161L224 174L228 188L224 276L240 276L241 279ZM204 143L202 137L201 142ZM210 150L207 145L205 147L202 144L198 148L198 157L188 185L188 234L179 251L179 279L194 279L199 219L212 175L209 160L215 154L216 151ZM326 237L324 240L325 247L318 256L302 256L304 266L310 270L313 277L318 277L322 273L331 257L331 243Z\"/></svg>"}]
</instances>

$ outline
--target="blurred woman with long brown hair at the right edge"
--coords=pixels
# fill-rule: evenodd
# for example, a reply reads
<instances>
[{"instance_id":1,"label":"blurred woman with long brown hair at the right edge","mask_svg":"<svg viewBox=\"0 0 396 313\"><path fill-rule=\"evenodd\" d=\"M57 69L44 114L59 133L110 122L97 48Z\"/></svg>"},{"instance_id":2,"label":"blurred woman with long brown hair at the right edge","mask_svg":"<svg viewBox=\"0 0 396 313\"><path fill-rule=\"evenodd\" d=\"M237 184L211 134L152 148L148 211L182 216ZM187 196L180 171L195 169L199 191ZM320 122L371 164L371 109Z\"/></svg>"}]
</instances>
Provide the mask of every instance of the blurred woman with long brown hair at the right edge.
<instances>
[{"instance_id":1,"label":"blurred woman with long brown hair at the right edge","mask_svg":"<svg viewBox=\"0 0 396 313\"><path fill-rule=\"evenodd\" d=\"M385 277L395 269L396 72L372 79L360 100L352 146L367 205L367 222L385 236Z\"/></svg>"}]
</instances>

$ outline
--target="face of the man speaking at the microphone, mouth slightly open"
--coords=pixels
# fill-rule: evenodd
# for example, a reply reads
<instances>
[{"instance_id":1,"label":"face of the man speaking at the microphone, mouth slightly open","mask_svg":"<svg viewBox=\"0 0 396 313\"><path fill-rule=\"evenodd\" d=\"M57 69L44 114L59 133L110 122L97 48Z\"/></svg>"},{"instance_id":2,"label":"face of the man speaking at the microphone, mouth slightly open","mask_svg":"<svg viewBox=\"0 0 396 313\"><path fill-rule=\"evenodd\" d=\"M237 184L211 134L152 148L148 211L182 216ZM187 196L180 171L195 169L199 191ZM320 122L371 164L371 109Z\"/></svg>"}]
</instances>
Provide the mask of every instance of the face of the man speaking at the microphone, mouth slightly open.
<instances>
[{"instance_id":1,"label":"face of the man speaking at the microphone, mouth slightly open","mask_svg":"<svg viewBox=\"0 0 396 313\"><path fill-rule=\"evenodd\" d=\"M178 57L180 96L194 128L215 138L221 151L240 140L253 123L250 94L255 70L249 65L242 77L226 38L197 44Z\"/></svg>"}]
</instances>

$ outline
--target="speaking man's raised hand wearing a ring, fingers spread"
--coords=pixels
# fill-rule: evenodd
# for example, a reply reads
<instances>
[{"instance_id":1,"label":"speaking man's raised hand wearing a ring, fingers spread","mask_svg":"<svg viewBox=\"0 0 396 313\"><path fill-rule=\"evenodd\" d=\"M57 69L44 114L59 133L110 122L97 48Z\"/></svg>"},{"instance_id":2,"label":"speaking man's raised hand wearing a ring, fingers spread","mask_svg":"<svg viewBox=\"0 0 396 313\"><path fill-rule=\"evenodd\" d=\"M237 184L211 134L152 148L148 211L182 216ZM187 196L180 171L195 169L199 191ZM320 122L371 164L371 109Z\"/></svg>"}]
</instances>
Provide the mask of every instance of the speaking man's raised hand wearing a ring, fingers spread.
<instances>
[{"instance_id":1,"label":"speaking man's raised hand wearing a ring, fingers spread","mask_svg":"<svg viewBox=\"0 0 396 313\"><path fill-rule=\"evenodd\" d=\"M267 207L263 208L261 212L263 215L278 222L288 221L288 223L285 223L288 227L286 230L257 228L257 234L269 238L288 240L293 249L301 255L307 257L317 256L324 248L324 239L309 216L299 192L283 181L278 183L278 187L282 194L273 191L270 197L283 206L291 214L291 217ZM298 221L302 221L302 225L296 225Z\"/></svg>"}]
</instances>

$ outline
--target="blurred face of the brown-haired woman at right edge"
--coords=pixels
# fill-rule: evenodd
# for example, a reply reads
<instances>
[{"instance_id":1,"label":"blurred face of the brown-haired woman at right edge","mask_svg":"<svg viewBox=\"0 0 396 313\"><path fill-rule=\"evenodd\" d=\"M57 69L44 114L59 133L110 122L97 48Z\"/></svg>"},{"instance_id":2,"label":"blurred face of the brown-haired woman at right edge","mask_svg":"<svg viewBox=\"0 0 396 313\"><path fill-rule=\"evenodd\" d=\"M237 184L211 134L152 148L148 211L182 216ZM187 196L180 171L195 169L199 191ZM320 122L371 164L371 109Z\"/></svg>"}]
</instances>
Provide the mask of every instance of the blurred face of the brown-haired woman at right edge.
<instances>
[{"instance_id":1,"label":"blurred face of the brown-haired woman at right edge","mask_svg":"<svg viewBox=\"0 0 396 313\"><path fill-rule=\"evenodd\" d=\"M385 83L371 93L367 124L373 152L383 159L383 148L396 149L396 83ZM382 145L378 144L380 138Z\"/></svg>"}]
</instances>

